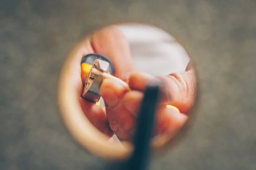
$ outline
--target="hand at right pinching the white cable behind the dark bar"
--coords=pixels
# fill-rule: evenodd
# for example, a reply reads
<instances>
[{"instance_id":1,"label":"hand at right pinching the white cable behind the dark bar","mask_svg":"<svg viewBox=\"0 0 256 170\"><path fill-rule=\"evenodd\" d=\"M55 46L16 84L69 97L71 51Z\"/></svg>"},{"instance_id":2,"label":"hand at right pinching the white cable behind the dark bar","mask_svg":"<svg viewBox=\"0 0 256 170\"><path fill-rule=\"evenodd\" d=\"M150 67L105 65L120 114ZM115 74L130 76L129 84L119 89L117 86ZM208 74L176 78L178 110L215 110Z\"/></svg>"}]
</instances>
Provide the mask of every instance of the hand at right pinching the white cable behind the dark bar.
<instances>
[{"instance_id":1,"label":"hand at right pinching the white cable behind the dark bar","mask_svg":"<svg viewBox=\"0 0 256 170\"><path fill-rule=\"evenodd\" d=\"M120 140L133 139L143 90L147 83L154 79L163 82L162 98L156 114L156 134L174 135L186 122L188 116L184 113L192 107L196 90L195 72L191 64L185 72L162 77L134 72L128 79L131 91L112 79L105 79L100 88L100 95L105 101L109 125ZM181 113L167 108L166 105L177 107Z\"/></svg>"}]
</instances>

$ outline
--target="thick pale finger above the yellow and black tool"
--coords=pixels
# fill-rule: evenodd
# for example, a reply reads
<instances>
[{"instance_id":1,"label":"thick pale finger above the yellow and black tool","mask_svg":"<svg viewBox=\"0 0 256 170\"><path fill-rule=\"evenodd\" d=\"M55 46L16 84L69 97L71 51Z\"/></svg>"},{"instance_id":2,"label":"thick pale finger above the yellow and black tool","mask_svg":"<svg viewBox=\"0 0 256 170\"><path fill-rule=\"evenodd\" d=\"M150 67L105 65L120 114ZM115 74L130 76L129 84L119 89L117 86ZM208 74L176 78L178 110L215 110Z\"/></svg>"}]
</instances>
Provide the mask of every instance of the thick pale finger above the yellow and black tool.
<instances>
[{"instance_id":1,"label":"thick pale finger above the yellow and black tool","mask_svg":"<svg viewBox=\"0 0 256 170\"><path fill-rule=\"evenodd\" d=\"M114 76L126 81L134 71L134 65L129 42L122 31L116 26L109 26L96 31L90 41L96 53L108 57L113 62Z\"/></svg>"}]
</instances>

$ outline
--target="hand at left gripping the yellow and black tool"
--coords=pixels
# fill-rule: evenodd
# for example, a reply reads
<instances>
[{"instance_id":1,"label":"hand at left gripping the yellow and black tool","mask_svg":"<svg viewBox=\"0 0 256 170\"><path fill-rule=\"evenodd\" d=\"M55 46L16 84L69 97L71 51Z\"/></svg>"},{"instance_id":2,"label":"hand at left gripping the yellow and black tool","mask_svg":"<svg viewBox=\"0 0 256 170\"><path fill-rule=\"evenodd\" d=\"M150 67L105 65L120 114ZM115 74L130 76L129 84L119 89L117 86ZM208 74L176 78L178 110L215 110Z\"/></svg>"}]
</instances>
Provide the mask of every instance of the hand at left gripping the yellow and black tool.
<instances>
[{"instance_id":1,"label":"hand at left gripping the yellow and black tool","mask_svg":"<svg viewBox=\"0 0 256 170\"><path fill-rule=\"evenodd\" d=\"M108 124L105 111L80 97L82 92L80 62L81 58L86 54L101 54L113 62L115 76L125 80L134 69L128 41L117 27L109 26L86 37L80 42L76 50L73 57L74 74L71 74L70 77L72 76L73 82L76 83L81 108L96 128L111 136L113 131Z\"/></svg>"}]
</instances>

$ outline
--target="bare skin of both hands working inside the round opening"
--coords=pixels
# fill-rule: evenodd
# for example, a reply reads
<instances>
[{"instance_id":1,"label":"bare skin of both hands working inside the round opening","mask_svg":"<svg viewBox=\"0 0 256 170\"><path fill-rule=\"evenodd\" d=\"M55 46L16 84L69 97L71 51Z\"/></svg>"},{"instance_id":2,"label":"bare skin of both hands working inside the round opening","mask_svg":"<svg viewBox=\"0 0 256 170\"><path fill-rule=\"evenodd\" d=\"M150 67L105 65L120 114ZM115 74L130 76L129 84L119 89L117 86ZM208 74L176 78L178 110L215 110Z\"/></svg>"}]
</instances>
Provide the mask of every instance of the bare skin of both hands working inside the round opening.
<instances>
[{"instance_id":1,"label":"bare skin of both hands working inside the round opening","mask_svg":"<svg viewBox=\"0 0 256 170\"><path fill-rule=\"evenodd\" d=\"M149 80L160 79L164 82L162 100L157 110L156 132L175 133L186 122L185 114L192 107L195 100L195 73L191 64L187 71L169 74L163 77L136 72L131 59L128 41L115 26L109 26L96 31L87 37L81 55L73 59L73 81L78 92L81 108L87 118L100 131L108 136L113 133L120 140L131 140L134 134L135 121L143 90ZM100 108L81 98L81 58L89 53L98 53L108 57L115 69L114 76L128 82L131 91L128 91L118 82L105 79L100 88L100 95L105 101L106 108ZM181 113L165 105L176 106Z\"/></svg>"}]
</instances>

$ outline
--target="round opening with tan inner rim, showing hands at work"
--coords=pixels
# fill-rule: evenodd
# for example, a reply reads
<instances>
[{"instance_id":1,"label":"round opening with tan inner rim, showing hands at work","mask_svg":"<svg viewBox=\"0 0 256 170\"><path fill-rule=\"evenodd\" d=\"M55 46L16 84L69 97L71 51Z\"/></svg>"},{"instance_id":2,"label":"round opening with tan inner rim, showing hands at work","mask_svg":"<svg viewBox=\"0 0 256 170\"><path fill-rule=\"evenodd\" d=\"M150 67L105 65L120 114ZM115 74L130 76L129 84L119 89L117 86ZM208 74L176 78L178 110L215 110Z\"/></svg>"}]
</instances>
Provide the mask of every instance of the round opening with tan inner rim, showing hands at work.
<instances>
[{"instance_id":1,"label":"round opening with tan inner rim, showing hands at work","mask_svg":"<svg viewBox=\"0 0 256 170\"><path fill-rule=\"evenodd\" d=\"M88 54L95 53L103 58L98 56L99 62L93 66L97 57ZM101 74L95 79L87 77L92 67L105 69L109 60L112 65L106 74L113 66L113 76L123 83ZM151 143L160 148L185 125L195 103L196 76L187 51L172 35L154 26L125 23L96 30L76 45L63 65L58 100L64 122L90 152L127 158L133 150L145 87L156 80L163 85ZM82 95L84 84L92 86ZM98 99L100 105L94 104Z\"/></svg>"}]
</instances>

